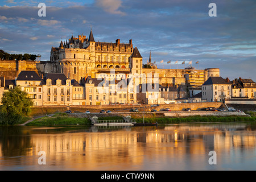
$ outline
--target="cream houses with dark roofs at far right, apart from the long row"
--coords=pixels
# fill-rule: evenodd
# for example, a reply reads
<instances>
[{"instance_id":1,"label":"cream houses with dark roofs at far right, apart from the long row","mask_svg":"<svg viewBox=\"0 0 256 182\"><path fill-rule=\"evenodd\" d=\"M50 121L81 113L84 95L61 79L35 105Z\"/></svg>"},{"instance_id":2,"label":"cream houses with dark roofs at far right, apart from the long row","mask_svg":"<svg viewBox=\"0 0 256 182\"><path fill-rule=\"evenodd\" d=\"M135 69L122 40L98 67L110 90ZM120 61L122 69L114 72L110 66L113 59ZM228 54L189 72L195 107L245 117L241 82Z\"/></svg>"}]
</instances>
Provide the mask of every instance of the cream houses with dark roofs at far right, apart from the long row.
<instances>
[{"instance_id":1,"label":"cream houses with dark roofs at far right, apart from the long row","mask_svg":"<svg viewBox=\"0 0 256 182\"><path fill-rule=\"evenodd\" d=\"M251 79L236 79L209 77L201 88L202 100L218 102L230 99L255 99L256 83Z\"/></svg>"}]
</instances>

